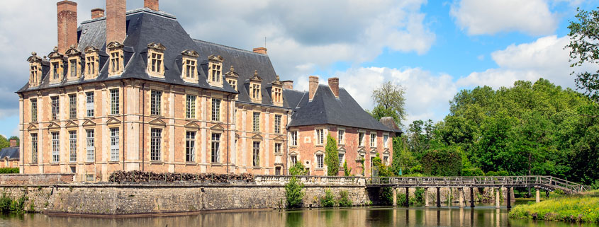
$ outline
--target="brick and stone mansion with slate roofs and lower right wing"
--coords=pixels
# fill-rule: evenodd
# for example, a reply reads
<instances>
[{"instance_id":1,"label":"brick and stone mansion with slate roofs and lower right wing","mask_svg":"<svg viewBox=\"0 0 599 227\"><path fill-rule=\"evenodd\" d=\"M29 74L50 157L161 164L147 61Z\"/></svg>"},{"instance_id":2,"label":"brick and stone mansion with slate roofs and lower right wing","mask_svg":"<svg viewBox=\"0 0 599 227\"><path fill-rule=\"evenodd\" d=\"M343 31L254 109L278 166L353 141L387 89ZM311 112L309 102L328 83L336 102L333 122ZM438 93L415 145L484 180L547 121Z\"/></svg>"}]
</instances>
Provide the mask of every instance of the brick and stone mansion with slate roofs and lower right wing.
<instances>
[{"instance_id":1,"label":"brick and stone mansion with slate roofs and lower right wing","mask_svg":"<svg viewBox=\"0 0 599 227\"><path fill-rule=\"evenodd\" d=\"M195 40L157 0L125 5L107 0L77 26L77 4L57 3L58 45L47 57L31 54L29 82L17 91L21 173L268 175L304 161L324 175L320 138L329 132L347 141L340 150L354 169L354 158L368 165L375 152L391 163L388 138L401 131L370 117L337 78L318 86L310 77L310 91L293 91L266 48Z\"/></svg>"}]
</instances>

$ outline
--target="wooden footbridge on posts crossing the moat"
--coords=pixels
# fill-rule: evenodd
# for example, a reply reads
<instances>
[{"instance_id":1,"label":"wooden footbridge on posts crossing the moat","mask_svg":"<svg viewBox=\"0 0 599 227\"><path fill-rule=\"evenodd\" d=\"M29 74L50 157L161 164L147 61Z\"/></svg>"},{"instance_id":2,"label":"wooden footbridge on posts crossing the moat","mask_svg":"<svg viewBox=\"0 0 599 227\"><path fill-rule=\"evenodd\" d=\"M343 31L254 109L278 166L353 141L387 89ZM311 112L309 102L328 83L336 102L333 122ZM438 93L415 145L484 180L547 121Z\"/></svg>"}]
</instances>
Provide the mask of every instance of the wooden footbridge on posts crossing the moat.
<instances>
[{"instance_id":1,"label":"wooden footbridge on posts crossing the moat","mask_svg":"<svg viewBox=\"0 0 599 227\"><path fill-rule=\"evenodd\" d=\"M580 185L568 180L562 180L551 176L504 176L504 177L370 177L365 180L366 187L393 187L393 206L397 205L398 188L405 187L405 206L408 206L408 192L410 187L424 187L426 206L428 202L428 188L437 189L437 206L440 203L440 188L450 187L459 190L459 204L464 207L464 188L470 190L470 206L474 207L474 188L505 188L508 190L508 208L511 207L511 190L517 187L534 187L536 189L536 200L540 200L539 190L554 191L562 190L567 194L580 193L589 190L588 186ZM495 204L499 208L500 190L496 190Z\"/></svg>"}]
</instances>

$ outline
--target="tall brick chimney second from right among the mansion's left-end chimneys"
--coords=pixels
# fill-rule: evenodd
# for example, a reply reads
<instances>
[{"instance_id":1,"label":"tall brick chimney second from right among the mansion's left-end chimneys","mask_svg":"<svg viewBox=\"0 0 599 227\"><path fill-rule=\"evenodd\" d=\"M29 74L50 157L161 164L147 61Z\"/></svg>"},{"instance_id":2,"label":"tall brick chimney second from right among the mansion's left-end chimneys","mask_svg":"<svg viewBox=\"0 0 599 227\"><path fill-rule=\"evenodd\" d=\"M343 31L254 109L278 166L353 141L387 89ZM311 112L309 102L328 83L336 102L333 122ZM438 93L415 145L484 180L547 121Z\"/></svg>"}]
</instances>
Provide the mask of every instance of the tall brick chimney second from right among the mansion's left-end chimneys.
<instances>
[{"instance_id":1,"label":"tall brick chimney second from right among the mansion's left-end chimneys","mask_svg":"<svg viewBox=\"0 0 599 227\"><path fill-rule=\"evenodd\" d=\"M106 0L106 45L116 41L125 40L126 36L126 18L127 1L125 0Z\"/></svg>"}]
</instances>

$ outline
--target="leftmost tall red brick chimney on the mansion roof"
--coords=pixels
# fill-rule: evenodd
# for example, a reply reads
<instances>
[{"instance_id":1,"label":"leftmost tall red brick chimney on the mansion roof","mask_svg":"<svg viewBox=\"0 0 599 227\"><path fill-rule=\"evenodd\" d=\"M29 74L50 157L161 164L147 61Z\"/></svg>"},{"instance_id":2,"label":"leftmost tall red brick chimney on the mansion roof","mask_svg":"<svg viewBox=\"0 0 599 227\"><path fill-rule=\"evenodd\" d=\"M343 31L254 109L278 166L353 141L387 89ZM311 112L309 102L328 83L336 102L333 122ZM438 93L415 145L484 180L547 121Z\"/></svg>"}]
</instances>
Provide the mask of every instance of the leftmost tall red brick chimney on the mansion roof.
<instances>
[{"instance_id":1,"label":"leftmost tall red brick chimney on the mansion roof","mask_svg":"<svg viewBox=\"0 0 599 227\"><path fill-rule=\"evenodd\" d=\"M58 18L58 52L65 53L71 45L77 46L77 3L56 3Z\"/></svg>"}]
</instances>

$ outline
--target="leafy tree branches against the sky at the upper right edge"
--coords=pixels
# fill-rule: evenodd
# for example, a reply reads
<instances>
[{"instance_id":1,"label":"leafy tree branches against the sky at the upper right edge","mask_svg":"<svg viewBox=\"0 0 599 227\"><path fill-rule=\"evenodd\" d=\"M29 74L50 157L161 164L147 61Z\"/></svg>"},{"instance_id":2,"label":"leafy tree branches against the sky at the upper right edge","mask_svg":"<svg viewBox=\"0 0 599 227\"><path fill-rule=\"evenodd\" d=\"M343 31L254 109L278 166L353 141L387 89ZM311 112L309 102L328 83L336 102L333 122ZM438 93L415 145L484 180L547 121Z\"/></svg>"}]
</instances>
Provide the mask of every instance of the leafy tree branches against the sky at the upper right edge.
<instances>
[{"instance_id":1,"label":"leafy tree branches against the sky at the upper right edge","mask_svg":"<svg viewBox=\"0 0 599 227\"><path fill-rule=\"evenodd\" d=\"M571 67L584 64L599 64L599 11L585 11L577 9L577 21L570 21L570 48ZM599 71L573 71L576 75L576 86L581 88L585 95L599 101Z\"/></svg>"}]
</instances>

